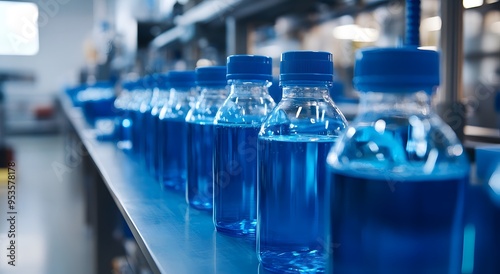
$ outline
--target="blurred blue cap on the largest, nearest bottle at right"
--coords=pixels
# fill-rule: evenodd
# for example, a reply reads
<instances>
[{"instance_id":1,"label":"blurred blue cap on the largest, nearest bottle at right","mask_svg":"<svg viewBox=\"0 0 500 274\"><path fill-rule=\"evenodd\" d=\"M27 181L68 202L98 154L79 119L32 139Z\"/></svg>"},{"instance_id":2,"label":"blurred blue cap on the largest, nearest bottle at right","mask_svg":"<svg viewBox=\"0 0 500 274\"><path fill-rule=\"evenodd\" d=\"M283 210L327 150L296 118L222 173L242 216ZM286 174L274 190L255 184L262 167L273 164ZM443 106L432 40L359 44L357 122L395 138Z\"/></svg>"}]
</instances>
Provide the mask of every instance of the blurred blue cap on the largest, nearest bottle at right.
<instances>
[{"instance_id":1,"label":"blurred blue cap on the largest, nearest bottle at right","mask_svg":"<svg viewBox=\"0 0 500 274\"><path fill-rule=\"evenodd\" d=\"M354 87L362 92L415 92L439 85L439 55L413 47L356 52Z\"/></svg>"}]
</instances>

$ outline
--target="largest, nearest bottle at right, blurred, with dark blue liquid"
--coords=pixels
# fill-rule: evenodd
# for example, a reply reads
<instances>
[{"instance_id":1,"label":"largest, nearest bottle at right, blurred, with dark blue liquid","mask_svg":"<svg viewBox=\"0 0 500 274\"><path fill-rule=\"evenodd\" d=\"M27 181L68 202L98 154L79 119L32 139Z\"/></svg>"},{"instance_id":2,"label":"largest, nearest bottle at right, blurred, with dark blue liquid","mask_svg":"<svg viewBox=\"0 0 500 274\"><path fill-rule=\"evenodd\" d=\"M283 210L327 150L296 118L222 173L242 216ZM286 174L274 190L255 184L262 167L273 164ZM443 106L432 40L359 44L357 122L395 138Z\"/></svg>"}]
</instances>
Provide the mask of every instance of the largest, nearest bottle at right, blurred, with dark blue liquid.
<instances>
[{"instance_id":1,"label":"largest, nearest bottle at right, blurred, with dark blue liquid","mask_svg":"<svg viewBox=\"0 0 500 274\"><path fill-rule=\"evenodd\" d=\"M435 51L356 53L358 116L328 155L333 273L461 273L469 163L430 105Z\"/></svg>"}]
</instances>

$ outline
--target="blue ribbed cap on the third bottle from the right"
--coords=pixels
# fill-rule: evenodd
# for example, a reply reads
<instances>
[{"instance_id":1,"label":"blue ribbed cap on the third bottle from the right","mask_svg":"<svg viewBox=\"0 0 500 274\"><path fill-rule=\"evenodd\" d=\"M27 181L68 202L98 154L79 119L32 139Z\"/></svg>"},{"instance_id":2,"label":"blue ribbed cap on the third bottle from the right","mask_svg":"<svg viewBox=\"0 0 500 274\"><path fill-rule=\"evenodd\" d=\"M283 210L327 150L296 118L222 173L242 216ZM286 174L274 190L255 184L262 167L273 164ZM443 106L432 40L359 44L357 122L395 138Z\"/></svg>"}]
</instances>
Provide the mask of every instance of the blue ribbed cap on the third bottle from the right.
<instances>
[{"instance_id":1,"label":"blue ribbed cap on the third bottle from the right","mask_svg":"<svg viewBox=\"0 0 500 274\"><path fill-rule=\"evenodd\" d=\"M273 60L261 55L231 55L227 57L226 79L267 80L273 79Z\"/></svg>"}]
</instances>

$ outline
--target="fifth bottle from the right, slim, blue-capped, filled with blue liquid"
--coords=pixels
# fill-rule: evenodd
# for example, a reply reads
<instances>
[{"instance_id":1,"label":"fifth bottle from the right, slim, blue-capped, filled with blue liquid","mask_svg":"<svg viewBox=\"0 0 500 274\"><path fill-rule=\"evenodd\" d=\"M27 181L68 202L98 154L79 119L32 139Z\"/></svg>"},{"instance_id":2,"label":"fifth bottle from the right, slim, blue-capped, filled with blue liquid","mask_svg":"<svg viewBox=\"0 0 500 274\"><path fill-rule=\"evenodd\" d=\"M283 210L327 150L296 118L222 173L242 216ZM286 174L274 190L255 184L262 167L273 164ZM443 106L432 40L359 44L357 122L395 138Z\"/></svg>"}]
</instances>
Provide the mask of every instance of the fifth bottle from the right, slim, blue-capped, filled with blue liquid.
<instances>
[{"instance_id":1,"label":"fifth bottle from the right, slim, blue-capped, filled with blue liquid","mask_svg":"<svg viewBox=\"0 0 500 274\"><path fill-rule=\"evenodd\" d=\"M185 190L187 123L186 115L194 99L194 71L171 71L168 74L170 98L159 114L159 181L166 187Z\"/></svg>"}]
</instances>

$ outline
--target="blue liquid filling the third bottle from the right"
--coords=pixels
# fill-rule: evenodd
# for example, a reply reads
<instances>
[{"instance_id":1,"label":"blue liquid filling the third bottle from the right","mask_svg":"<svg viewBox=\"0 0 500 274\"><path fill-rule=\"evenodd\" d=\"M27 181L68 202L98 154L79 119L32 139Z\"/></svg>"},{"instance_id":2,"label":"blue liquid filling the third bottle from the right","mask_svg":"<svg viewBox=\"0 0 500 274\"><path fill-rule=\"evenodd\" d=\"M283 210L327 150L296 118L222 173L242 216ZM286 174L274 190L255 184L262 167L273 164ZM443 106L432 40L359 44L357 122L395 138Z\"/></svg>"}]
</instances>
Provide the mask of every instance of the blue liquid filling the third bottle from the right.
<instances>
[{"instance_id":1,"label":"blue liquid filling the third bottle from the right","mask_svg":"<svg viewBox=\"0 0 500 274\"><path fill-rule=\"evenodd\" d=\"M214 208L217 231L255 235L257 135L260 126L216 126Z\"/></svg>"}]
</instances>

